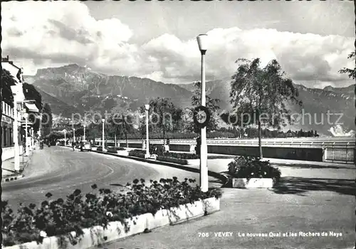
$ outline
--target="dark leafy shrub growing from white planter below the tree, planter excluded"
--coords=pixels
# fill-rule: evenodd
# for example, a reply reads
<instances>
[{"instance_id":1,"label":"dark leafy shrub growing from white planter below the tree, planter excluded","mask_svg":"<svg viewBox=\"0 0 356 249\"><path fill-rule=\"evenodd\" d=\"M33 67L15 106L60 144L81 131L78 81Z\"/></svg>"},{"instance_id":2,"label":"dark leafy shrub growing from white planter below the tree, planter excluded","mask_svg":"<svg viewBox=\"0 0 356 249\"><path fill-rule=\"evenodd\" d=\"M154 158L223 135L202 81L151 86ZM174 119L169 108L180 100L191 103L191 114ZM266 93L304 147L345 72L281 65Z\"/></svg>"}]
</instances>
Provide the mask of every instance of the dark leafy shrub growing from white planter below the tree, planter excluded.
<instances>
[{"instance_id":1,"label":"dark leafy shrub growing from white planter below the tree, planter excluded","mask_svg":"<svg viewBox=\"0 0 356 249\"><path fill-rule=\"evenodd\" d=\"M271 166L269 161L261 161L258 157L236 157L229 163L229 174L234 178L274 178L279 181L281 171Z\"/></svg>"}]
</instances>

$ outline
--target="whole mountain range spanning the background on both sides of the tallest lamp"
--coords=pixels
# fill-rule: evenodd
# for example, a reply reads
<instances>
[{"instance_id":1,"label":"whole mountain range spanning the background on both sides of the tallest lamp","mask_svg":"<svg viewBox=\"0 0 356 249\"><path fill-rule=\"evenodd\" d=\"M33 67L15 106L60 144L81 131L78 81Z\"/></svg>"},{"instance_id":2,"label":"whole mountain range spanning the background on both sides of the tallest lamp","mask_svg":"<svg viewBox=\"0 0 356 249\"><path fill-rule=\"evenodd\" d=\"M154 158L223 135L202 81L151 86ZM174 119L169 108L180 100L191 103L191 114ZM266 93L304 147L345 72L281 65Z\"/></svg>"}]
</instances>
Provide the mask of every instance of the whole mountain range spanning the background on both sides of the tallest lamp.
<instances>
[{"instance_id":1,"label":"whole mountain range spanning the background on both sides of the tallest lamp","mask_svg":"<svg viewBox=\"0 0 356 249\"><path fill-rule=\"evenodd\" d=\"M152 97L169 97L174 105L185 108L191 106L194 91L193 83L165 84L148 78L105 75L76 64L38 69L36 75L24 78L41 93L43 102L51 105L53 114L62 117L71 117L74 112L135 111ZM206 82L206 95L221 100L221 110L229 110L231 106L229 82ZM295 87L298 88L298 98L303 102L303 107L290 105L290 110L292 113L301 113L303 109L305 118L303 122L285 129L313 129L325 135L331 135L330 128L336 125L341 125L346 132L354 129L355 85L347 88L328 86L324 89L306 88L303 85ZM320 124L322 119L323 124Z\"/></svg>"}]
</instances>

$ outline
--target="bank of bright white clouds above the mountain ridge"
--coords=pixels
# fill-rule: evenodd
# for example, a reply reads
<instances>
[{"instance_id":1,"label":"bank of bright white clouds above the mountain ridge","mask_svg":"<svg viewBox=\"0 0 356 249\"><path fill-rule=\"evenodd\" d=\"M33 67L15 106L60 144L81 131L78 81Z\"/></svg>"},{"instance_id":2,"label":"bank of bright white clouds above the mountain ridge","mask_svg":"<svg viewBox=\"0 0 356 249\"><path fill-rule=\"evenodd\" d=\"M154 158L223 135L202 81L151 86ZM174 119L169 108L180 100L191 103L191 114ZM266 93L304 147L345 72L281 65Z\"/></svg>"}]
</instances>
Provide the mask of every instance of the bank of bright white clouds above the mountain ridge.
<instances>
[{"instance_id":1,"label":"bank of bright white clouds above the mountain ridge","mask_svg":"<svg viewBox=\"0 0 356 249\"><path fill-rule=\"evenodd\" d=\"M182 40L164 33L139 46L132 43L135 31L125 23L117 18L96 20L78 1L13 1L2 6L3 54L22 64L28 74L78 63L100 73L164 83L200 79L201 55L195 37ZM262 65L277 59L296 83L352 83L338 70L354 67L347 55L354 49L355 38L238 27L214 28L207 34L206 80L231 77L238 58L261 58Z\"/></svg>"}]
</instances>

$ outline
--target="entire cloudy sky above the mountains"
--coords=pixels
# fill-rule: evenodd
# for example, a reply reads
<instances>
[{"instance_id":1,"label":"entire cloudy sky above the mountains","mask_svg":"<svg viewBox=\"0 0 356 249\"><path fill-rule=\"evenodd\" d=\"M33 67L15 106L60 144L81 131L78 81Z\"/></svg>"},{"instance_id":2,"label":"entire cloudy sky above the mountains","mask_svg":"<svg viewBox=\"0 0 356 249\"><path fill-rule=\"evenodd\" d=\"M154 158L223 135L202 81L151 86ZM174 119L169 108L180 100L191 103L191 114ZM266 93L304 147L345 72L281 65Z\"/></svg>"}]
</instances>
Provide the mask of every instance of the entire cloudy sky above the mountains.
<instances>
[{"instance_id":1,"label":"entire cloudy sky above the mountains","mask_svg":"<svg viewBox=\"0 0 356 249\"><path fill-rule=\"evenodd\" d=\"M1 3L2 57L25 75L77 63L108 75L164 83L229 80L239 58L276 59L309 88L345 87L354 68L352 1L10 1Z\"/></svg>"}]
</instances>

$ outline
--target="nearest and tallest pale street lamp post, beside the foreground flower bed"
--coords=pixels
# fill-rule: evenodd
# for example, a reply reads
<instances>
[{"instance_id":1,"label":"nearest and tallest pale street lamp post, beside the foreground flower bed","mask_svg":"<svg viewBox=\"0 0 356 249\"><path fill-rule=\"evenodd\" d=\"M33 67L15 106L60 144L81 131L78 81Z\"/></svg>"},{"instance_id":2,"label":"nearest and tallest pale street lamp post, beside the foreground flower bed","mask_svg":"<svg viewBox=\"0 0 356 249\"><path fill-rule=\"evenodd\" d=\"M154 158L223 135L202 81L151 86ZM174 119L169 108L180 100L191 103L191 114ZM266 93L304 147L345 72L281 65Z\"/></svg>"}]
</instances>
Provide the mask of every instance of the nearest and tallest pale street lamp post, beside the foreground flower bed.
<instances>
[{"instance_id":1,"label":"nearest and tallest pale street lamp post, beside the foreground flower bed","mask_svg":"<svg viewBox=\"0 0 356 249\"><path fill-rule=\"evenodd\" d=\"M201 105L206 105L205 97L205 53L207 50L206 34L197 36L198 46L201 53ZM201 149L200 149L200 188L201 191L208 191L208 147L206 145L206 127L201 128Z\"/></svg>"}]
</instances>

